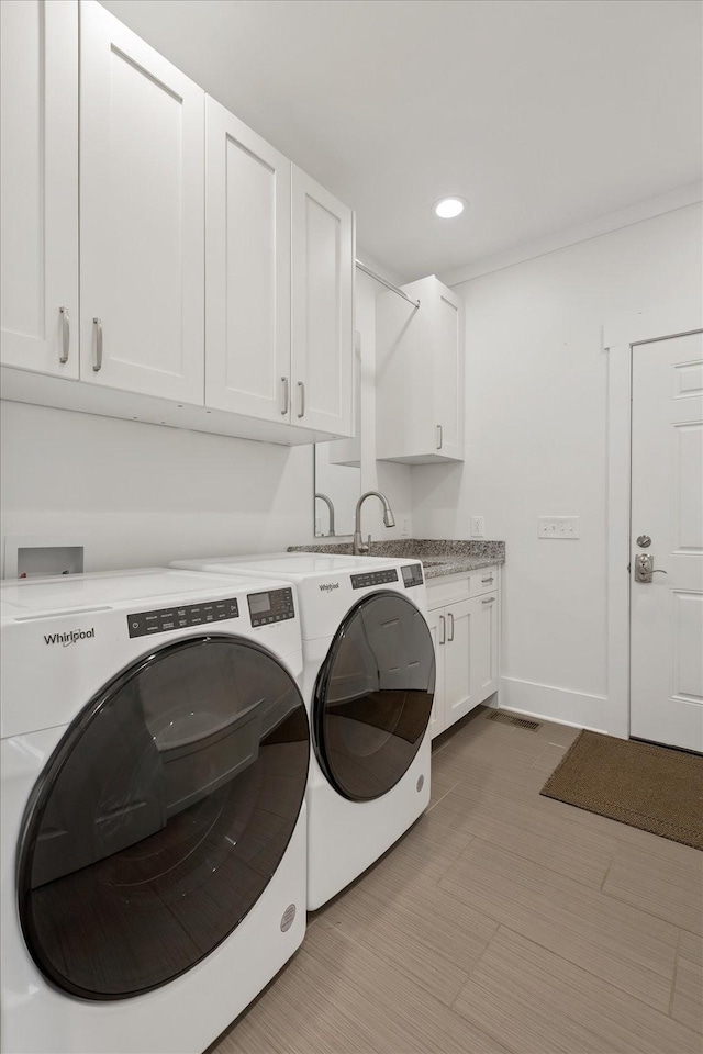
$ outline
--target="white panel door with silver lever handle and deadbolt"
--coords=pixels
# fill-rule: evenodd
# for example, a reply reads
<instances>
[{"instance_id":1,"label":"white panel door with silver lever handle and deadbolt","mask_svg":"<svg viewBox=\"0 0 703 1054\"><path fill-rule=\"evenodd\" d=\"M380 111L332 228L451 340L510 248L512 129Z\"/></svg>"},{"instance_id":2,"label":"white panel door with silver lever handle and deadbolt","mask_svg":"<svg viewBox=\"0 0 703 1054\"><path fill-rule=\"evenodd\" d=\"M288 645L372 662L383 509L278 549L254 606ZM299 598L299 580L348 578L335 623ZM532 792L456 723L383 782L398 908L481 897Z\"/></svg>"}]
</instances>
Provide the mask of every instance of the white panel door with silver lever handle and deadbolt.
<instances>
[{"instance_id":1,"label":"white panel door with silver lever handle and deadbolt","mask_svg":"<svg viewBox=\"0 0 703 1054\"><path fill-rule=\"evenodd\" d=\"M633 348L631 529L631 735L703 751L700 333Z\"/></svg>"}]
</instances>

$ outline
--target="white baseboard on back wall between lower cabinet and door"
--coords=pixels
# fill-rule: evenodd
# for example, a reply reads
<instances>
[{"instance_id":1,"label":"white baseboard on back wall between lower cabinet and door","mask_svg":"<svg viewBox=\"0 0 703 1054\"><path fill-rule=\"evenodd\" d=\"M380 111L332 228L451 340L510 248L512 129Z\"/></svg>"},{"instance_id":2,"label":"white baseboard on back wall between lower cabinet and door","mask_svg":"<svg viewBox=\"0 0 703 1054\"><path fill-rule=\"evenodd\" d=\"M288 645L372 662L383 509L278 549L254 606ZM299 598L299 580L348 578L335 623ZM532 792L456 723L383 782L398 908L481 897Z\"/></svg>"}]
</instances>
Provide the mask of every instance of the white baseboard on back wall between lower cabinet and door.
<instances>
[{"instance_id":1,"label":"white baseboard on back wall between lower cabinet and door","mask_svg":"<svg viewBox=\"0 0 703 1054\"><path fill-rule=\"evenodd\" d=\"M546 721L559 721L561 725L627 738L622 720L618 721L618 715L613 713L610 700L603 695L588 695L549 684L501 677L498 704L503 710L516 710Z\"/></svg>"}]
</instances>

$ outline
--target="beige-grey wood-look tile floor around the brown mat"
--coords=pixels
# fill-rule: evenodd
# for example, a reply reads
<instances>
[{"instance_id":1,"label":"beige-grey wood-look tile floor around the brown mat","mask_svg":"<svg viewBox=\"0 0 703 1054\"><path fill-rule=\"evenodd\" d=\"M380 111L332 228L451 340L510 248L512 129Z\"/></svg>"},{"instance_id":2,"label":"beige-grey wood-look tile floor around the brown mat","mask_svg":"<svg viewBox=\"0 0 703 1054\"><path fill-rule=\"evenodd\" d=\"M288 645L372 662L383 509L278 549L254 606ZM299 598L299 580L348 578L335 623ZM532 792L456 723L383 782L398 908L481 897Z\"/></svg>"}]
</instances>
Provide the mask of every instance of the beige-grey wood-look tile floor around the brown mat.
<instances>
[{"instance_id":1,"label":"beige-grey wood-look tile floor around the brown mat","mask_svg":"<svg viewBox=\"0 0 703 1054\"><path fill-rule=\"evenodd\" d=\"M210 1054L702 1054L703 853L540 797L577 730L489 713Z\"/></svg>"}]
</instances>

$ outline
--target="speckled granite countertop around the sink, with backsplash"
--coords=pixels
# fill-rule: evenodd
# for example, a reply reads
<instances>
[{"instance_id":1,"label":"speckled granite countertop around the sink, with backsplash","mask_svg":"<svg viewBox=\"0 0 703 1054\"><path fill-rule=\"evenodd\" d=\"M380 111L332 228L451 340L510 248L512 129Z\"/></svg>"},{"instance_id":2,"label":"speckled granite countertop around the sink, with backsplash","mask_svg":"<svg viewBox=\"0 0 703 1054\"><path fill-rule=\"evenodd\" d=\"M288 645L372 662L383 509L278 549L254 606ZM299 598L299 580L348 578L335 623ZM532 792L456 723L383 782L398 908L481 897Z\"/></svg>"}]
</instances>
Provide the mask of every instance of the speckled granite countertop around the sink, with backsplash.
<instances>
[{"instance_id":1,"label":"speckled granite countertop around the sink, with backsplash","mask_svg":"<svg viewBox=\"0 0 703 1054\"><path fill-rule=\"evenodd\" d=\"M328 552L347 556L352 542L330 542L320 546L289 546L289 552ZM394 557L422 561L426 579L444 574L461 574L478 568L505 563L504 541L450 541L437 538L398 538L394 541L372 541L366 556Z\"/></svg>"}]
</instances>

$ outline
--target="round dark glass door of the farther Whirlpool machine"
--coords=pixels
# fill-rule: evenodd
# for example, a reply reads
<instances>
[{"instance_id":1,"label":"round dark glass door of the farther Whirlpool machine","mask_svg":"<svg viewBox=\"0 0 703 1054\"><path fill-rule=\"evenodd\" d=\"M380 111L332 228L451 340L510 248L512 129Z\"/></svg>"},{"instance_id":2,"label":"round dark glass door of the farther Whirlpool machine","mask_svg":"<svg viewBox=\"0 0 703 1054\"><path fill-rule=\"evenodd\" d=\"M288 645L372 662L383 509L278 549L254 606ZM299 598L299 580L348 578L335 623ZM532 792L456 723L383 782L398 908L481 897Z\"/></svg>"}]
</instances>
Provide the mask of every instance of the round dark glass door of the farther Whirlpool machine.
<instances>
[{"instance_id":1,"label":"round dark glass door of the farther Whirlpool machine","mask_svg":"<svg viewBox=\"0 0 703 1054\"><path fill-rule=\"evenodd\" d=\"M337 629L315 684L315 752L353 801L387 794L423 741L435 689L427 624L398 593L371 593Z\"/></svg>"}]
</instances>

